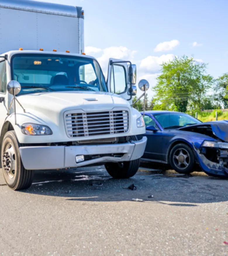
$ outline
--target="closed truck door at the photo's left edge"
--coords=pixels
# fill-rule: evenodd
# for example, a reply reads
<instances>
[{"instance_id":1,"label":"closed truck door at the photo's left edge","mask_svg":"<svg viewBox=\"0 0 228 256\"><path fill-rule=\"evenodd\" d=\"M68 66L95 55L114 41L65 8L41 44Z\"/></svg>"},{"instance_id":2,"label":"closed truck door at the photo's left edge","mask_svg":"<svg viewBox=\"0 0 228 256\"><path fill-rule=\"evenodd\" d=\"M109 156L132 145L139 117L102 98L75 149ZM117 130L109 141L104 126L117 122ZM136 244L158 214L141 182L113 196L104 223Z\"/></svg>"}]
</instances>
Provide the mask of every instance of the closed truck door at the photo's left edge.
<instances>
[{"instance_id":1,"label":"closed truck door at the photo's left edge","mask_svg":"<svg viewBox=\"0 0 228 256\"><path fill-rule=\"evenodd\" d=\"M7 98L6 98L6 62L0 61L0 131L7 115Z\"/></svg>"}]
</instances>

